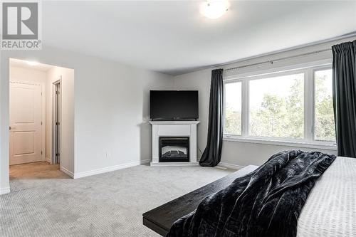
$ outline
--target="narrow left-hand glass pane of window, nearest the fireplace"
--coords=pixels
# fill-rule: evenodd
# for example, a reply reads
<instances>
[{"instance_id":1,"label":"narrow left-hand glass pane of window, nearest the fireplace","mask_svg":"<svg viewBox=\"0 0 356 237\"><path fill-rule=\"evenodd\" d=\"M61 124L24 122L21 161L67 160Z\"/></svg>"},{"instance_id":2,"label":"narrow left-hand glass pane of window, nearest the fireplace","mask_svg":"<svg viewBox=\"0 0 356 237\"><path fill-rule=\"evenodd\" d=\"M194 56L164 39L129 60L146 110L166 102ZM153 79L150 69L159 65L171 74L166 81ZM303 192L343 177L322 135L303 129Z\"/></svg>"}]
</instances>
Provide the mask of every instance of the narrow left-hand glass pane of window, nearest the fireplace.
<instances>
[{"instance_id":1,"label":"narrow left-hand glass pane of window, nearest the fireplace","mask_svg":"<svg viewBox=\"0 0 356 237\"><path fill-rule=\"evenodd\" d=\"M225 133L241 135L241 82L225 84Z\"/></svg>"}]
</instances>

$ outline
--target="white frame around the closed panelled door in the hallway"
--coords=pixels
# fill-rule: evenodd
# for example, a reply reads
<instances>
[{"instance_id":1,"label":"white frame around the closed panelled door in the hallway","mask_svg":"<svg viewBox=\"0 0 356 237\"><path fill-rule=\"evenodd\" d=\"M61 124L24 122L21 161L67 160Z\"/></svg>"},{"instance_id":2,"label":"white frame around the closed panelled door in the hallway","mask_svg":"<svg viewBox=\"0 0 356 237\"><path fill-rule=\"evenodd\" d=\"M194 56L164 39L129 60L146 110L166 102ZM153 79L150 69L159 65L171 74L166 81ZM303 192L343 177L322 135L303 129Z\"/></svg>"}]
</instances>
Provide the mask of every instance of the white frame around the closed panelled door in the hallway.
<instances>
[{"instance_id":1,"label":"white frame around the closed panelled door in the hallway","mask_svg":"<svg viewBox=\"0 0 356 237\"><path fill-rule=\"evenodd\" d=\"M41 161L44 162L46 161L46 85L44 83L35 83L35 82L29 82L25 80L10 80L9 81L9 87L11 86L11 83L18 83L18 84L25 84L25 85L39 85L41 87ZM9 95L9 102L11 98ZM10 132L10 131L9 131ZM9 141L10 142L10 141ZM9 144L10 147L10 144ZM10 155L9 155L9 162L10 162Z\"/></svg>"}]
</instances>

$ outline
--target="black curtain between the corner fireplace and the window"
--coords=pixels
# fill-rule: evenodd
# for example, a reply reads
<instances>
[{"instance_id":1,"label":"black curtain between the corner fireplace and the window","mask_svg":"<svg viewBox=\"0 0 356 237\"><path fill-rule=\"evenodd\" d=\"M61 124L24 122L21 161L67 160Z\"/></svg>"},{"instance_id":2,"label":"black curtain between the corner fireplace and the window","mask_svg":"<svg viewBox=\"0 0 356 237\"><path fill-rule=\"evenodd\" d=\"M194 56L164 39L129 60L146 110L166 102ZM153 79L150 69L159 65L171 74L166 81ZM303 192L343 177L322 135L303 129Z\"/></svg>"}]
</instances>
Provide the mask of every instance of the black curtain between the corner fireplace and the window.
<instances>
[{"instance_id":1,"label":"black curtain between the corner fireplace and the window","mask_svg":"<svg viewBox=\"0 0 356 237\"><path fill-rule=\"evenodd\" d=\"M206 148L199 164L202 167L215 167L221 159L224 120L223 69L211 71L209 127Z\"/></svg>"}]
</instances>

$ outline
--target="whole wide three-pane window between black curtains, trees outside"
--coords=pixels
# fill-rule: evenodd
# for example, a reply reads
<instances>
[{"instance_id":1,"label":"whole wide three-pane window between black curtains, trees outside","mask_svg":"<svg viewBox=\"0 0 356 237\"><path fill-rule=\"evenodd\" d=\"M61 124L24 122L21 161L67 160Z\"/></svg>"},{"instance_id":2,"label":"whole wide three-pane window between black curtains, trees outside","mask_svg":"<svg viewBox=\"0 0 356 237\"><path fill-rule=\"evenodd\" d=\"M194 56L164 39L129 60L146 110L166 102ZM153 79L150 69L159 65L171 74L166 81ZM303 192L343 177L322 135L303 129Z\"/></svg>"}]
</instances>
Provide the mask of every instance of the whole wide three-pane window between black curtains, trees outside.
<instances>
[{"instance_id":1,"label":"whole wide three-pane window between black curtains, trees outside","mask_svg":"<svg viewBox=\"0 0 356 237\"><path fill-rule=\"evenodd\" d=\"M225 139L335 147L330 66L224 78Z\"/></svg>"}]
</instances>

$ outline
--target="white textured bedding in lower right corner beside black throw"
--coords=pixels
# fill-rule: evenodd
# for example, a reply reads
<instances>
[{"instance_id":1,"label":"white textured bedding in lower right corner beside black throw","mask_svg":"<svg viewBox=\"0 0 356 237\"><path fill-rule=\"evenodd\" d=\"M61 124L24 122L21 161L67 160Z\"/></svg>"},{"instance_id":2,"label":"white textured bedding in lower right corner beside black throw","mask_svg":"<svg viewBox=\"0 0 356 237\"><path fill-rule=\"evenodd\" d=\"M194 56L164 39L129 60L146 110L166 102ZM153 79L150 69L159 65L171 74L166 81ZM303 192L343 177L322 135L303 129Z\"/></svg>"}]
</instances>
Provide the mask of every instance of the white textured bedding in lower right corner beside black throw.
<instances>
[{"instance_id":1,"label":"white textured bedding in lower right corner beside black throw","mask_svg":"<svg viewBox=\"0 0 356 237\"><path fill-rule=\"evenodd\" d=\"M297 237L356 236L356 159L337 157L315 183Z\"/></svg>"}]
</instances>

